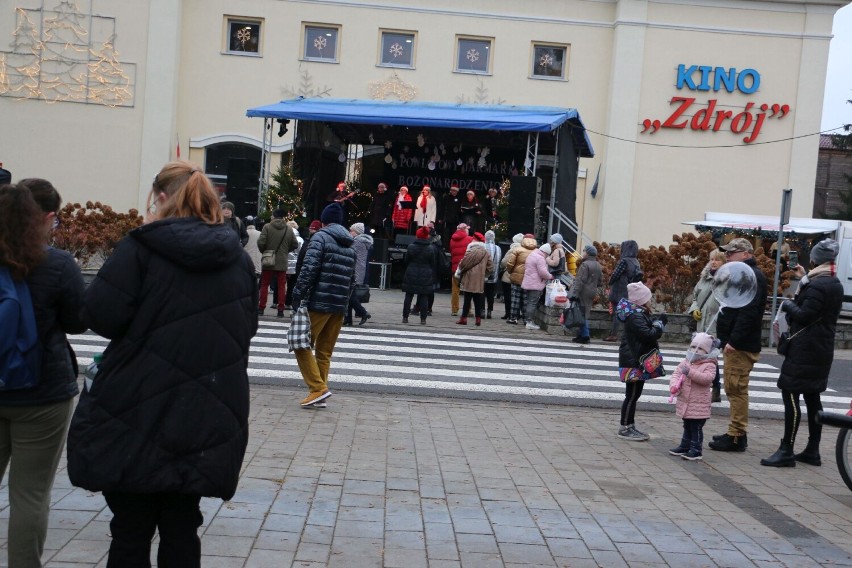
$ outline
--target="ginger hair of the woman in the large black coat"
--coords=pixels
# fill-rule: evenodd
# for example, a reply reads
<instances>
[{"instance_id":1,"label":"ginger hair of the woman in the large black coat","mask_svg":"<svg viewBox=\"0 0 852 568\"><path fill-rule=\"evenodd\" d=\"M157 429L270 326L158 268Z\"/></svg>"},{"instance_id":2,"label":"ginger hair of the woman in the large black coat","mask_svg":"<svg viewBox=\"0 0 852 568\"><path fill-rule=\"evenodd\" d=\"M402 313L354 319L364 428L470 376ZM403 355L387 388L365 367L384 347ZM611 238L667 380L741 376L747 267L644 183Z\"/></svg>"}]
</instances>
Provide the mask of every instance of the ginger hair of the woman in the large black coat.
<instances>
[{"instance_id":1,"label":"ginger hair of the woman in the large black coat","mask_svg":"<svg viewBox=\"0 0 852 568\"><path fill-rule=\"evenodd\" d=\"M168 199L158 208L157 218L198 217L208 225L222 223L222 207L219 196L204 172L190 162L169 162L151 188L152 197L160 193Z\"/></svg>"}]
</instances>

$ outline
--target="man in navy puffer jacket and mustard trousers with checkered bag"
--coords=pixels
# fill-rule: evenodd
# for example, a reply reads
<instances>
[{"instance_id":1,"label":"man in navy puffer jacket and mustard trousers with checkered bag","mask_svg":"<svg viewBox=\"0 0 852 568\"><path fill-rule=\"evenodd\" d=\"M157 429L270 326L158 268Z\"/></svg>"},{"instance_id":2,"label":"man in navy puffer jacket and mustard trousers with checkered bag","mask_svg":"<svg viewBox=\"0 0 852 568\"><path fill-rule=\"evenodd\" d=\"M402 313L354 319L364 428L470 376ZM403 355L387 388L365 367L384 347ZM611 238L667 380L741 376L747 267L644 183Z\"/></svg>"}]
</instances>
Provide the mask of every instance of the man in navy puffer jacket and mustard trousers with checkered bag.
<instances>
[{"instance_id":1,"label":"man in navy puffer jacket and mustard trousers with checkered bag","mask_svg":"<svg viewBox=\"0 0 852 568\"><path fill-rule=\"evenodd\" d=\"M341 226L343 207L339 203L327 205L320 221L323 228L303 245L307 250L293 289L293 309L307 302L314 343L313 350L293 350L308 385L308 396L300 403L303 408L325 408L324 401L331 396L331 354L355 283L355 239Z\"/></svg>"}]
</instances>

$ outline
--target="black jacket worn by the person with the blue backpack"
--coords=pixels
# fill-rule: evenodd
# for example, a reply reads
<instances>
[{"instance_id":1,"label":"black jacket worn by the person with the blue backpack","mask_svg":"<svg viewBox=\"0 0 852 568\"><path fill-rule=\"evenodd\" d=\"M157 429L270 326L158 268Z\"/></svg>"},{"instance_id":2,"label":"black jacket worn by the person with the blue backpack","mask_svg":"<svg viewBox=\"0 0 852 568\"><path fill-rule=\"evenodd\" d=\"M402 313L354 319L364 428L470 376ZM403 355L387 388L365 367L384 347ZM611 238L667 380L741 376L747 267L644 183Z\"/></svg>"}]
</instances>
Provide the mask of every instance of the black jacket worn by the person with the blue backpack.
<instances>
[{"instance_id":1,"label":"black jacket worn by the person with the blue backpack","mask_svg":"<svg viewBox=\"0 0 852 568\"><path fill-rule=\"evenodd\" d=\"M0 393L0 406L38 406L74 398L76 361L71 359L66 333L83 333L80 319L83 277L64 250L48 248L47 258L27 277L41 341L41 378L33 389Z\"/></svg>"}]
</instances>

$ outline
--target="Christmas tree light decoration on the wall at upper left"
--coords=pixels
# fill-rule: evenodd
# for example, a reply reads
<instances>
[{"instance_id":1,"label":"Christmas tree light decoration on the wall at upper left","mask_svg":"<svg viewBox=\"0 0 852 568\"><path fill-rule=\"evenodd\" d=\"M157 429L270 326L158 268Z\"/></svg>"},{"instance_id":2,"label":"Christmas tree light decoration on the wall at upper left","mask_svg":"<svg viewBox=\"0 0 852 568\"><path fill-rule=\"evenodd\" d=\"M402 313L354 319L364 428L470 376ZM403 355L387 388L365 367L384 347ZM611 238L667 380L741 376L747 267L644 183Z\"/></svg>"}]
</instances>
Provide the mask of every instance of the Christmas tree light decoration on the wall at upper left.
<instances>
[{"instance_id":1,"label":"Christmas tree light decoration on the wall at upper left","mask_svg":"<svg viewBox=\"0 0 852 568\"><path fill-rule=\"evenodd\" d=\"M0 96L133 106L136 66L119 60L115 19L84 13L74 0L52 10L44 3L15 9L11 49L0 51Z\"/></svg>"}]
</instances>

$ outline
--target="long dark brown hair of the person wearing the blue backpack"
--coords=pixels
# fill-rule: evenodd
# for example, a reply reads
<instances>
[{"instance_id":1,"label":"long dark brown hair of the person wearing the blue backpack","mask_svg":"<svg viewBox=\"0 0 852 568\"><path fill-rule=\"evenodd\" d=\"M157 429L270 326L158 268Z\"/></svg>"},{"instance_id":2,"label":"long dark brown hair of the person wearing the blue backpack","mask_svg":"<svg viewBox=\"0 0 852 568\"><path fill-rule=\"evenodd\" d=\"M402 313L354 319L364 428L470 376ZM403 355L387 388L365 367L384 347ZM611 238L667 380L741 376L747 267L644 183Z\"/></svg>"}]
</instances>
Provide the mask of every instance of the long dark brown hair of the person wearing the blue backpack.
<instances>
[{"instance_id":1,"label":"long dark brown hair of the person wearing the blue backpack","mask_svg":"<svg viewBox=\"0 0 852 568\"><path fill-rule=\"evenodd\" d=\"M0 187L0 264L23 280L45 257L44 212L29 189Z\"/></svg>"}]
</instances>

